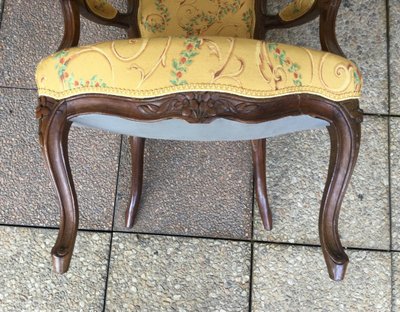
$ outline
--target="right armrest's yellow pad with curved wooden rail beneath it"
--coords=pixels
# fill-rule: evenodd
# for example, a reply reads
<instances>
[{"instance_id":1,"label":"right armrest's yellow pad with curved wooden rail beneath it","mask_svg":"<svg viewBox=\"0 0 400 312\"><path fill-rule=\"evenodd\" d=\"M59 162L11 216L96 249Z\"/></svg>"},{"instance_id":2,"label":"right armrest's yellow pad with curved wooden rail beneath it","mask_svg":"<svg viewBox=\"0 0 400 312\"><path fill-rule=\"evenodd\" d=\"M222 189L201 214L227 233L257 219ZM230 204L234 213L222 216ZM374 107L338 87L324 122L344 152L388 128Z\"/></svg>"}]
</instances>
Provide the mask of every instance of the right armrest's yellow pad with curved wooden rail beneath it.
<instances>
[{"instance_id":1,"label":"right armrest's yellow pad with curved wooden rail beneath it","mask_svg":"<svg viewBox=\"0 0 400 312\"><path fill-rule=\"evenodd\" d=\"M318 0L293 0L276 15L265 16L265 28L290 28L314 20L319 15Z\"/></svg>"}]
</instances>

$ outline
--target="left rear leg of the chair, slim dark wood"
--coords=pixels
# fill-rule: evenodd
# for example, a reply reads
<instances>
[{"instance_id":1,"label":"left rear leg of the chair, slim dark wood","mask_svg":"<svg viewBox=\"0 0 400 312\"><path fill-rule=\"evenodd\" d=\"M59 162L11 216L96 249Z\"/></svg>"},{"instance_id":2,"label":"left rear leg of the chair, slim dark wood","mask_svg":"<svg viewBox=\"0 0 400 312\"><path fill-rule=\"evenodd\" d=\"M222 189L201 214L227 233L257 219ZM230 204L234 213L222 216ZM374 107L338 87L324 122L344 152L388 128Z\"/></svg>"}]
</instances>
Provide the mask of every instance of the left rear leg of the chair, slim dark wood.
<instances>
[{"instance_id":1,"label":"left rear leg of the chair, slim dark wood","mask_svg":"<svg viewBox=\"0 0 400 312\"><path fill-rule=\"evenodd\" d=\"M132 228L135 224L136 215L139 211L140 197L143 185L143 154L144 138L129 137L132 157L132 184L131 201L125 213L125 223L127 228Z\"/></svg>"}]
</instances>

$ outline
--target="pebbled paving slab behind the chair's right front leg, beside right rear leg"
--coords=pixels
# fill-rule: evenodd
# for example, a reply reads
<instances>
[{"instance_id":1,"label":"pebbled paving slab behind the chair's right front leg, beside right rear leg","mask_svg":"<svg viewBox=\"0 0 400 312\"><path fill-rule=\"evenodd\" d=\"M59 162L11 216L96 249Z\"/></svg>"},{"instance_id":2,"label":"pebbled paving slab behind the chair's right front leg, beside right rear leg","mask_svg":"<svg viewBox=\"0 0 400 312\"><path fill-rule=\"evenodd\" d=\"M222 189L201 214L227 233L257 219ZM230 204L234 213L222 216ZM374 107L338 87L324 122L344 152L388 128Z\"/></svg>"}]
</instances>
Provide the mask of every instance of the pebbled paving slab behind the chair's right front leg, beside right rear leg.
<instances>
[{"instance_id":1,"label":"pebbled paving slab behind the chair's right front leg, beside right rear leg","mask_svg":"<svg viewBox=\"0 0 400 312\"><path fill-rule=\"evenodd\" d=\"M359 159L339 219L344 246L389 249L388 120L366 117ZM258 240L319 244L318 215L328 171L325 129L267 140L267 187L273 229L263 229L255 206Z\"/></svg>"}]
</instances>

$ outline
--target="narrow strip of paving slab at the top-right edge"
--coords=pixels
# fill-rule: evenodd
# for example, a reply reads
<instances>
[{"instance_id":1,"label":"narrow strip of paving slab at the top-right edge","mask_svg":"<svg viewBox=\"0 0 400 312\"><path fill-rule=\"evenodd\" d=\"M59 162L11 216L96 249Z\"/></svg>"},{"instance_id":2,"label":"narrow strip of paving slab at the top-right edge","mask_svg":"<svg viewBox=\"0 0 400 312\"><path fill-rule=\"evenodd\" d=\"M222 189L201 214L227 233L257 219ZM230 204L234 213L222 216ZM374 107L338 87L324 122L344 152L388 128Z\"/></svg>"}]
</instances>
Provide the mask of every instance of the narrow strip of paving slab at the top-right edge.
<instances>
[{"instance_id":1,"label":"narrow strip of paving slab at the top-right edge","mask_svg":"<svg viewBox=\"0 0 400 312\"><path fill-rule=\"evenodd\" d=\"M390 112L400 114L400 1L389 1Z\"/></svg>"}]
</instances>

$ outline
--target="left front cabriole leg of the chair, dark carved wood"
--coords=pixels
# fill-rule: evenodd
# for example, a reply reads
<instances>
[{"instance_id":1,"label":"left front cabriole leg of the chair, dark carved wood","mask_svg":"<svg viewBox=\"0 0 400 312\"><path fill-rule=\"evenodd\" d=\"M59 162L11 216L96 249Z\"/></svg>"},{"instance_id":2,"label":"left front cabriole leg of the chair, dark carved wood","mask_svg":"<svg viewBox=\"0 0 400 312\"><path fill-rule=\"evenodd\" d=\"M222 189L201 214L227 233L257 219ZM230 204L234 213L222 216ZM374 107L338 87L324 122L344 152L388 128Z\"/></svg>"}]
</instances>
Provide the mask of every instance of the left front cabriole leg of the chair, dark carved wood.
<instances>
[{"instance_id":1,"label":"left front cabriole leg of the chair, dark carved wood","mask_svg":"<svg viewBox=\"0 0 400 312\"><path fill-rule=\"evenodd\" d=\"M40 141L57 192L61 210L60 230L51 251L53 269L65 273L71 261L78 229L78 203L68 159L67 104L41 98L38 107Z\"/></svg>"}]
</instances>

